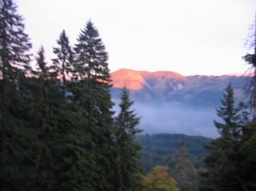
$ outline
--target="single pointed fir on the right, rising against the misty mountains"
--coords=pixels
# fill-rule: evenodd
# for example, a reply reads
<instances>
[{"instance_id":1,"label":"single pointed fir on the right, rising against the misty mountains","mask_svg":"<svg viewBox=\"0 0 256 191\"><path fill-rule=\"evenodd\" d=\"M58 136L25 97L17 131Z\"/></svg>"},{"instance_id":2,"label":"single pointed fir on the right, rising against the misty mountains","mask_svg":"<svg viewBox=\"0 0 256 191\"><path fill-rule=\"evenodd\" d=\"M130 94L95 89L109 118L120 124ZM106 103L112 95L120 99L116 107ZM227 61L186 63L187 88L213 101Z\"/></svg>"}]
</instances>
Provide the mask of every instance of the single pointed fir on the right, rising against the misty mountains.
<instances>
[{"instance_id":1,"label":"single pointed fir on the right, rising against the misty mountains","mask_svg":"<svg viewBox=\"0 0 256 191\"><path fill-rule=\"evenodd\" d=\"M229 84L225 90L218 117L223 121L214 121L220 137L207 146L207 172L203 174L202 190L242 190L239 181L241 156L240 142L244 125L248 122L247 107L240 103L237 107L234 91Z\"/></svg>"}]
</instances>

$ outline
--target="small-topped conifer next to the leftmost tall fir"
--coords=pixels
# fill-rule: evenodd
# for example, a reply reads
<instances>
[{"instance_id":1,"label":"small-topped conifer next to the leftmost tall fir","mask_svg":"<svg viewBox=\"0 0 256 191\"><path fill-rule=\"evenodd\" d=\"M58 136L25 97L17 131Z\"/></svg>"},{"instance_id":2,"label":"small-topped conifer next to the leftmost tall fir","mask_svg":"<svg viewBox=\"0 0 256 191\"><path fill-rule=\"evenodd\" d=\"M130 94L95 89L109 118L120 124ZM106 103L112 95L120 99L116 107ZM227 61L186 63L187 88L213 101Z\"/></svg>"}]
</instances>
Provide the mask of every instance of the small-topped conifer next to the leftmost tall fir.
<instances>
[{"instance_id":1,"label":"small-topped conifer next to the leftmost tall fir","mask_svg":"<svg viewBox=\"0 0 256 191\"><path fill-rule=\"evenodd\" d=\"M36 130L37 136L37 142L34 142L37 150L33 183L38 185L38 190L47 190L54 187L55 180L51 165L54 158L51 142L54 141L50 140L56 136L56 113L52 106L57 103L55 100L59 94L52 80L50 66L45 61L43 46L38 50L36 61L36 71L33 71L36 78L31 78L28 84L32 92L32 100L29 104L29 115L32 119L30 124ZM55 95L55 100L52 99L51 94Z\"/></svg>"}]
</instances>

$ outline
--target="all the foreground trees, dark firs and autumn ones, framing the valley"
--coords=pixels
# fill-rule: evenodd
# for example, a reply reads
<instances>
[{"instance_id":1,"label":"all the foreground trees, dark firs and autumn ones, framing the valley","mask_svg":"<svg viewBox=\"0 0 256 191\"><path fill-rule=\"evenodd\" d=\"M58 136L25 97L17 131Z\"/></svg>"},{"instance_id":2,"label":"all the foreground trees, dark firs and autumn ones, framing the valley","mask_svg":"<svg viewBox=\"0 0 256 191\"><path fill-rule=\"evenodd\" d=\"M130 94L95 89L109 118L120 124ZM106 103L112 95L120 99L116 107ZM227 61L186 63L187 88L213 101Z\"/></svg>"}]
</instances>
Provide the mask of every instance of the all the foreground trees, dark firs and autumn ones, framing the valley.
<instances>
[{"instance_id":1,"label":"all the foreground trees, dark firs and autumn ones, framing the valley","mask_svg":"<svg viewBox=\"0 0 256 191\"><path fill-rule=\"evenodd\" d=\"M15 3L0 0L1 190L256 189L256 44L244 57L254 72L253 120L229 85L217 109L221 121L214 121L220 136L206 144L205 164L181 140L164 163L143 173L140 118L125 88L113 113L108 53L92 21L75 44L63 30L50 63L43 46L30 54L24 28Z\"/></svg>"}]
</instances>

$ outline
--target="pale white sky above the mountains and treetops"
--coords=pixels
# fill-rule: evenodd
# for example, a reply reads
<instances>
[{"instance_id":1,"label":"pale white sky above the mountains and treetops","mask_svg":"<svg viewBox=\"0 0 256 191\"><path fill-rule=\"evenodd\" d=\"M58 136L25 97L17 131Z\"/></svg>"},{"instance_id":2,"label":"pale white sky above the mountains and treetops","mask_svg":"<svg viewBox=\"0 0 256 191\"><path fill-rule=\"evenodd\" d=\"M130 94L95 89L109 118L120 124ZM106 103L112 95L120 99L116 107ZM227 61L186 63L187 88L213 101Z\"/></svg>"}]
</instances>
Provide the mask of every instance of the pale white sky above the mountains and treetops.
<instances>
[{"instance_id":1,"label":"pale white sky above the mountains and treetops","mask_svg":"<svg viewBox=\"0 0 256 191\"><path fill-rule=\"evenodd\" d=\"M241 59L255 0L14 0L48 61L63 29L72 44L88 20L108 51L110 71L131 68L183 75L243 73Z\"/></svg>"}]
</instances>

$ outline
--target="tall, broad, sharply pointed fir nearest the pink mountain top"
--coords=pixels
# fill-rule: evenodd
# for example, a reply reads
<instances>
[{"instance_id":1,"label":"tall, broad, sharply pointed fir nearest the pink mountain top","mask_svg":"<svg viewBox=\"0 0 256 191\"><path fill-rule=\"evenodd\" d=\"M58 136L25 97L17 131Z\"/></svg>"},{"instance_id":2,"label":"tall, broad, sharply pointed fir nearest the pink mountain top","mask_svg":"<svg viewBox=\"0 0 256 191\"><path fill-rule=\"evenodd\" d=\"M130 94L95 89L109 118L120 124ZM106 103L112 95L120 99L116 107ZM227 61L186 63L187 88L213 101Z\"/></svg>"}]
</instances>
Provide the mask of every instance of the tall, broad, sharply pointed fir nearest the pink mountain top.
<instances>
[{"instance_id":1,"label":"tall, broad, sharply pointed fir nearest the pink mountain top","mask_svg":"<svg viewBox=\"0 0 256 191\"><path fill-rule=\"evenodd\" d=\"M94 171L95 190L111 190L113 177L113 102L111 101L111 79L108 69L108 53L96 27L89 20L81 30L75 45L74 79L79 83L73 89L73 98L84 108L88 119L88 133L94 139L89 148L96 153Z\"/></svg>"}]
</instances>

